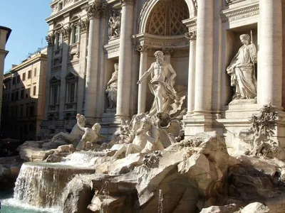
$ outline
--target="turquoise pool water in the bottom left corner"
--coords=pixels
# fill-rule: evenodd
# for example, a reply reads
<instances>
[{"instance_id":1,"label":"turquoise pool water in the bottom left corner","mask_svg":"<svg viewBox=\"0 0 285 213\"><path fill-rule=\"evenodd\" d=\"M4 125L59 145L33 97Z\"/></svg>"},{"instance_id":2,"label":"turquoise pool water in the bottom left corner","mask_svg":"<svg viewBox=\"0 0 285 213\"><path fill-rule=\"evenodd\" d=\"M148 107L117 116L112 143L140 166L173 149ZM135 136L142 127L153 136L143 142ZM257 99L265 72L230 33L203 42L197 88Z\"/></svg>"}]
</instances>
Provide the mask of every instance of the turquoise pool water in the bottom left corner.
<instances>
[{"instance_id":1,"label":"turquoise pool water in the bottom left corner","mask_svg":"<svg viewBox=\"0 0 285 213\"><path fill-rule=\"evenodd\" d=\"M13 199L13 191L0 192L1 213L60 213L58 209L41 209L28 204L21 204Z\"/></svg>"}]
</instances>

